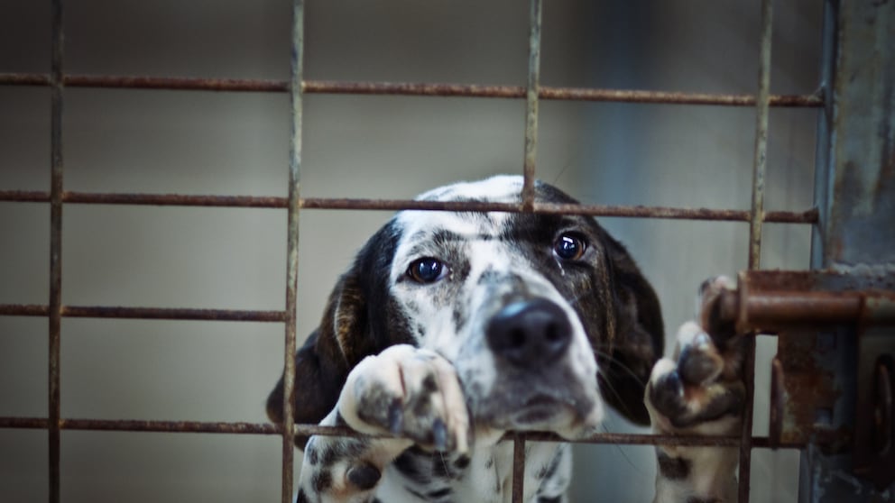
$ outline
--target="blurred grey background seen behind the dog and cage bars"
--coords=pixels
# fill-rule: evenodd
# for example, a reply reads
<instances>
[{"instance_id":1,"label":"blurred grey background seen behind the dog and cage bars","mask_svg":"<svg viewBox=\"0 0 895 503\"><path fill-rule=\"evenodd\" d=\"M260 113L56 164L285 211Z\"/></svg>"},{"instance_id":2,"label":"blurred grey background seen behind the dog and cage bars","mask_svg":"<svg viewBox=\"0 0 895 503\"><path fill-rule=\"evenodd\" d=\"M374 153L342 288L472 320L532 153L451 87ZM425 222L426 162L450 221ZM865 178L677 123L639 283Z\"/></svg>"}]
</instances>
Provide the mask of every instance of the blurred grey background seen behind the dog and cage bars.
<instances>
[{"instance_id":1,"label":"blurred grey background seen behind the dog and cage bars","mask_svg":"<svg viewBox=\"0 0 895 503\"><path fill-rule=\"evenodd\" d=\"M4 0L0 72L50 69L46 2ZM809 94L822 4L775 6L771 92ZM527 3L328 0L306 10L307 79L523 86ZM544 6L541 84L754 94L760 6L555 0ZM64 7L67 73L289 76L283 0L81 0ZM286 94L69 88L68 190L285 196ZM522 100L305 96L305 197L403 198L457 179L521 173ZM817 112L774 108L766 207L812 206ZM596 204L748 209L751 107L542 101L538 177ZM50 91L0 87L0 190L49 190ZM299 334L382 212L300 216ZM67 205L62 302L282 309L283 210ZM747 267L748 224L604 218L663 303L669 350L699 283ZM49 298L49 205L0 203L0 303ZM809 228L766 224L762 267L807 269ZM0 416L47 416L47 321L0 316ZM62 416L266 421L281 324L63 318ZM755 432L767 430L761 337ZM613 432L644 431L612 416ZM0 430L0 501L47 498L42 430ZM66 502L279 501L276 436L63 431ZM753 453L752 501L795 500L798 453ZM642 502L648 446L577 446L570 497Z\"/></svg>"}]
</instances>

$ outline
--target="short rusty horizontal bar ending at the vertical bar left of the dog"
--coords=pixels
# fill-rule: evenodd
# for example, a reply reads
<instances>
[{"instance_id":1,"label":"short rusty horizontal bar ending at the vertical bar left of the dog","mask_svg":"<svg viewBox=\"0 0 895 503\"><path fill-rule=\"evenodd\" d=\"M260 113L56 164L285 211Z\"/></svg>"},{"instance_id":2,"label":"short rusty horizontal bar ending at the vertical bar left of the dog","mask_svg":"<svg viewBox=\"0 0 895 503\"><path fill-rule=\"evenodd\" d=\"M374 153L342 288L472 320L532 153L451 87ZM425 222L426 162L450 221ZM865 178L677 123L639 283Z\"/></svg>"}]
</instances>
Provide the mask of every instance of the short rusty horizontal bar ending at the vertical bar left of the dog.
<instances>
[{"instance_id":1,"label":"short rusty horizontal bar ending at the vertical bar left of the dog","mask_svg":"<svg viewBox=\"0 0 895 503\"><path fill-rule=\"evenodd\" d=\"M62 316L73 318L130 318L161 320L282 322L285 311L189 309L167 307L62 306ZM48 316L50 307L35 304L0 304L0 316Z\"/></svg>"}]
</instances>

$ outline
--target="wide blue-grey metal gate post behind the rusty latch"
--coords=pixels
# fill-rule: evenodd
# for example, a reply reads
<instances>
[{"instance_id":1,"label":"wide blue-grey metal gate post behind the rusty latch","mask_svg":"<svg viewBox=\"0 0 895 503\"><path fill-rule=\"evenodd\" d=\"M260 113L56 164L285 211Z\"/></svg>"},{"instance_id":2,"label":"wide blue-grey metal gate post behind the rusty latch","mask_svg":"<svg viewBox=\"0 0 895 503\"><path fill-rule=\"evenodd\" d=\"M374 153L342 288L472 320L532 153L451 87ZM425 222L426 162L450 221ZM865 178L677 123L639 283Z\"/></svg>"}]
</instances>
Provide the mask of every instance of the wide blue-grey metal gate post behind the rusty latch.
<instances>
[{"instance_id":1,"label":"wide blue-grey metal gate post behind the rusty latch","mask_svg":"<svg viewBox=\"0 0 895 503\"><path fill-rule=\"evenodd\" d=\"M819 221L811 267L836 270L850 288L875 288L895 268L895 4L827 0L824 14L825 108L817 128ZM831 278L819 287L839 282ZM893 464L870 433L885 409L872 398L877 359L895 354L895 338L872 325L827 327L835 351L814 355L840 391L827 408L825 427L853 435L845 449L809 444L803 451L799 501L885 500L895 494Z\"/></svg>"}]
</instances>

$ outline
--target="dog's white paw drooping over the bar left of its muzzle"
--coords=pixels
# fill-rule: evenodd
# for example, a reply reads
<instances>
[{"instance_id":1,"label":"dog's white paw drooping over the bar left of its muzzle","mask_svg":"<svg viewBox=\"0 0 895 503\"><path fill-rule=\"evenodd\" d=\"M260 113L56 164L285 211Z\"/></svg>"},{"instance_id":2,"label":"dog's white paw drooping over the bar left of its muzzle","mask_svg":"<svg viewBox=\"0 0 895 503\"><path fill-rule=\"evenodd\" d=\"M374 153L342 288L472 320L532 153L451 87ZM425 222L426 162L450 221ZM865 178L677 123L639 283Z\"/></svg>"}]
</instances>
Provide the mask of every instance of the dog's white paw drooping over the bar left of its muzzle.
<instances>
[{"instance_id":1,"label":"dog's white paw drooping over the bar left of its muzzle","mask_svg":"<svg viewBox=\"0 0 895 503\"><path fill-rule=\"evenodd\" d=\"M364 358L348 374L337 407L361 433L397 434L437 451L466 453L469 447L457 372L436 352L399 344Z\"/></svg>"}]
</instances>

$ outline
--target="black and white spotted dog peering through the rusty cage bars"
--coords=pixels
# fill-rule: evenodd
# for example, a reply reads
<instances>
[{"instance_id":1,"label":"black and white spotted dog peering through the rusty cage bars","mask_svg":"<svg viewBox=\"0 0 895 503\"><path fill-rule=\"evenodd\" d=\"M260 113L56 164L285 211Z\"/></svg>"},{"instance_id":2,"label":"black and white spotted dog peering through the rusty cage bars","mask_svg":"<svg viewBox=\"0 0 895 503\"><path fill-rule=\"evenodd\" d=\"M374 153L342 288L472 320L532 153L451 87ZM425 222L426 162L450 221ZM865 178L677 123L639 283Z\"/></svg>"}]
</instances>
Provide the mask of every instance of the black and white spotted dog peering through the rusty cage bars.
<instances>
[{"instance_id":1,"label":"black and white spotted dog peering through the rusty cage bars","mask_svg":"<svg viewBox=\"0 0 895 503\"><path fill-rule=\"evenodd\" d=\"M420 199L518 203L521 187L499 176ZM575 202L535 188L539 201ZM706 284L706 305L720 288ZM512 443L502 435L594 434L606 404L663 434L734 433L742 338L702 311L681 328L674 359L660 360L659 301L593 218L398 213L358 253L296 354L294 403L298 423L401 438L311 437L299 445L297 501L509 501ZM268 398L274 422L282 389L281 380ZM657 501L733 500L735 450L657 455ZM525 458L523 500L564 501L567 444L530 443Z\"/></svg>"}]
</instances>

